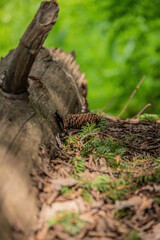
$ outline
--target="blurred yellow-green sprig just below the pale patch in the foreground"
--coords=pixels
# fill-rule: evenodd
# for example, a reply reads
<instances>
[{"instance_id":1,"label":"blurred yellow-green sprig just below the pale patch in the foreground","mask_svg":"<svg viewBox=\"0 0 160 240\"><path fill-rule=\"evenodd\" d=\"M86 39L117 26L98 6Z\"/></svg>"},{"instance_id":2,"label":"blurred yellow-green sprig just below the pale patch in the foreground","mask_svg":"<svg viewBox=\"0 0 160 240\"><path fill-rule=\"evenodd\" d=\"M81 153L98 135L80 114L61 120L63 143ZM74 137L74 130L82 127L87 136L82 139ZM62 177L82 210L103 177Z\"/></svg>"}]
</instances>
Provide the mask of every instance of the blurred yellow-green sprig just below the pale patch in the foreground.
<instances>
[{"instance_id":1,"label":"blurred yellow-green sprig just below the pale patch in the foreground","mask_svg":"<svg viewBox=\"0 0 160 240\"><path fill-rule=\"evenodd\" d=\"M80 219L77 213L60 211L55 218L48 221L48 224L51 227L60 224L65 231L72 235L76 235L83 229L85 221Z\"/></svg>"}]
</instances>

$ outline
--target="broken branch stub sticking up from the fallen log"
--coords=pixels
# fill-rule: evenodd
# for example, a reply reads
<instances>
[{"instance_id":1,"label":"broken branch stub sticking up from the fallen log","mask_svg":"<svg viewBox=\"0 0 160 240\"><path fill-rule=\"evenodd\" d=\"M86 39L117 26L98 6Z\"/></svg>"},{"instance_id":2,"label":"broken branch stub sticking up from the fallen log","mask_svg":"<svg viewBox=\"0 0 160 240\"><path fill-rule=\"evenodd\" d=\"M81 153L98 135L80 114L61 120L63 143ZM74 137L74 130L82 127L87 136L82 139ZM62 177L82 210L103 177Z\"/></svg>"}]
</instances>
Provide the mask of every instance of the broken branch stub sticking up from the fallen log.
<instances>
[{"instance_id":1,"label":"broken branch stub sticking up from the fallen log","mask_svg":"<svg viewBox=\"0 0 160 240\"><path fill-rule=\"evenodd\" d=\"M58 11L59 7L53 1L41 3L6 71L2 85L4 92L19 94L27 91L29 72L42 44L57 20Z\"/></svg>"}]
</instances>

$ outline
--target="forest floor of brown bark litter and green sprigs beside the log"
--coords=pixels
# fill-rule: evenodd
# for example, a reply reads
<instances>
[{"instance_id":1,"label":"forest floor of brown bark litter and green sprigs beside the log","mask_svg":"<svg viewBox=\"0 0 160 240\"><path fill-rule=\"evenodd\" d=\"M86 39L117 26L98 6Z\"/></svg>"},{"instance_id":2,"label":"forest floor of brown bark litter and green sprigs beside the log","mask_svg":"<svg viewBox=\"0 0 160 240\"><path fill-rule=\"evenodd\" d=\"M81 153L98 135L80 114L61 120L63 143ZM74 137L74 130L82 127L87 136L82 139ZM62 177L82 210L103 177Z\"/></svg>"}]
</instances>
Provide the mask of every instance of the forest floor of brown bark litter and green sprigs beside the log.
<instances>
[{"instance_id":1,"label":"forest floor of brown bark litter and green sprigs beside the log","mask_svg":"<svg viewBox=\"0 0 160 240\"><path fill-rule=\"evenodd\" d=\"M40 149L30 240L160 239L160 123L103 116Z\"/></svg>"}]
</instances>

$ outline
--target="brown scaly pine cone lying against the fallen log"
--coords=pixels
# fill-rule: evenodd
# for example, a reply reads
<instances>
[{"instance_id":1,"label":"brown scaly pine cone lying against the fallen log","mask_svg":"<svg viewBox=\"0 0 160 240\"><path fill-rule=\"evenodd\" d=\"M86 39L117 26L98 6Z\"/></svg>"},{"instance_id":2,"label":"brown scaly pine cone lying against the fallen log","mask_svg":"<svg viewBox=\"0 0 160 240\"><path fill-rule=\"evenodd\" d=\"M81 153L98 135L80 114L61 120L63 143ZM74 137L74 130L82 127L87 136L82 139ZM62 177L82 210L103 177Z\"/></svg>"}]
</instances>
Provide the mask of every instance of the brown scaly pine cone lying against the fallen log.
<instances>
[{"instance_id":1,"label":"brown scaly pine cone lying against the fallen log","mask_svg":"<svg viewBox=\"0 0 160 240\"><path fill-rule=\"evenodd\" d=\"M78 129L86 125L87 122L98 124L100 121L101 118L95 113L69 114L64 119L64 127Z\"/></svg>"}]
</instances>

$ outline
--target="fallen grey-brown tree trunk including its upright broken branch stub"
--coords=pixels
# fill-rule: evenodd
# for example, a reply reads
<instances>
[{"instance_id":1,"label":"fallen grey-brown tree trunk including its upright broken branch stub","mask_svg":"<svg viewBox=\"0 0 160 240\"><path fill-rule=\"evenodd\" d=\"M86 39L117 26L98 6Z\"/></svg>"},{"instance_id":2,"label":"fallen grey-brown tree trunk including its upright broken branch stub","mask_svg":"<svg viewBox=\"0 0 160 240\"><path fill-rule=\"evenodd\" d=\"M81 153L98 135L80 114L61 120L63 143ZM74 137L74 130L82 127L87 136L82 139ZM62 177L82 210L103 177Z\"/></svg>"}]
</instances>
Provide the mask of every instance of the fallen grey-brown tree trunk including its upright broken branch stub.
<instances>
[{"instance_id":1,"label":"fallen grey-brown tree trunk including its upright broken branch stub","mask_svg":"<svg viewBox=\"0 0 160 240\"><path fill-rule=\"evenodd\" d=\"M0 62L0 239L13 229L27 239L36 200L30 173L42 144L53 153L59 119L87 111L87 84L73 54L42 47L57 19L55 1L42 2L16 50Z\"/></svg>"}]
</instances>

